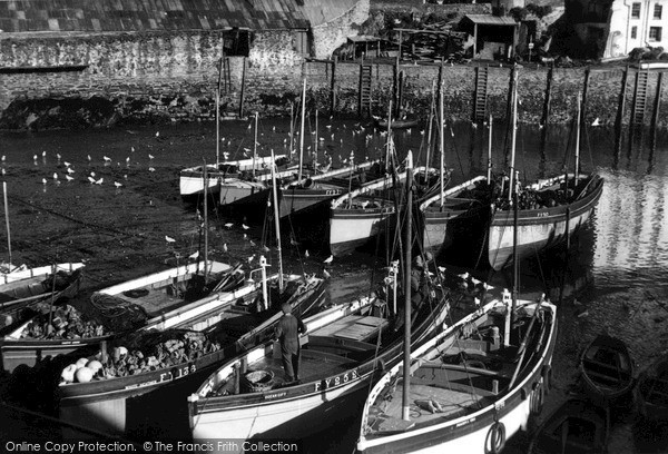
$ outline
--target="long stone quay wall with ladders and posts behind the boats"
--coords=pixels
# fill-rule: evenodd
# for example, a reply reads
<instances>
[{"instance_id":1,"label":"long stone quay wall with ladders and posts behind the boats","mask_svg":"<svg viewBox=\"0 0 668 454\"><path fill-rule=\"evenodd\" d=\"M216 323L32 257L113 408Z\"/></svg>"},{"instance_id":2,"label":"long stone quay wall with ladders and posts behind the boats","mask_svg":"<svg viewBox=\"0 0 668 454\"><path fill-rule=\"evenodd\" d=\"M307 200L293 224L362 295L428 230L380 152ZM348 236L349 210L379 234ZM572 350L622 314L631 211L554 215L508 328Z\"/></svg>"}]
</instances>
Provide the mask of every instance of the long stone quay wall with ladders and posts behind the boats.
<instances>
[{"instance_id":1,"label":"long stone quay wall with ladders and posts behind the boats","mask_svg":"<svg viewBox=\"0 0 668 454\"><path fill-rule=\"evenodd\" d=\"M249 57L227 57L223 115L287 116L306 76L310 108L357 115L360 63L308 61L293 47L291 31L258 32ZM0 128L43 129L108 126L124 122L200 121L215 118L215 92L223 40L216 31L160 33L87 33L9 37L0 40ZM367 61L366 63L369 63ZM385 116L393 96L395 65L371 61L372 112ZM407 111L426 116L440 63L402 62L403 102ZM227 72L228 68L228 72ZM334 70L334 78L332 73ZM625 67L554 68L549 122L574 115L578 92L587 88L586 121L612 125L618 116ZM542 120L549 69L518 71L519 121ZM636 69L628 70L623 121L630 120ZM442 68L446 119L473 117L477 67ZM658 72L649 73L645 121L654 117ZM488 112L503 119L508 111L511 67L489 68ZM661 99L666 99L662 83ZM666 102L658 125L666 127Z\"/></svg>"}]
</instances>

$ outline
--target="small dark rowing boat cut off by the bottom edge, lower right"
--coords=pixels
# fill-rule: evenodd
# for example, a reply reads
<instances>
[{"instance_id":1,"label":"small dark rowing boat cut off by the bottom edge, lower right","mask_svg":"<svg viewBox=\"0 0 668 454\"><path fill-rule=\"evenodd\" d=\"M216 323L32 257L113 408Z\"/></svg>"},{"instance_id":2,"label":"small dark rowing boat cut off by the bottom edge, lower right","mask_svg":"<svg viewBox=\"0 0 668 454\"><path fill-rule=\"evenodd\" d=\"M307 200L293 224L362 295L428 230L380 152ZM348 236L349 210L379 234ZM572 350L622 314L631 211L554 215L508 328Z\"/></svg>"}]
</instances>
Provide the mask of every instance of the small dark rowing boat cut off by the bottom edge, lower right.
<instances>
[{"instance_id":1,"label":"small dark rowing boat cut off by the bottom edge, lower right","mask_svg":"<svg viewBox=\"0 0 668 454\"><path fill-rule=\"evenodd\" d=\"M606 453L609 425L606 408L584 399L568 399L538 427L531 438L529 453Z\"/></svg>"}]
</instances>

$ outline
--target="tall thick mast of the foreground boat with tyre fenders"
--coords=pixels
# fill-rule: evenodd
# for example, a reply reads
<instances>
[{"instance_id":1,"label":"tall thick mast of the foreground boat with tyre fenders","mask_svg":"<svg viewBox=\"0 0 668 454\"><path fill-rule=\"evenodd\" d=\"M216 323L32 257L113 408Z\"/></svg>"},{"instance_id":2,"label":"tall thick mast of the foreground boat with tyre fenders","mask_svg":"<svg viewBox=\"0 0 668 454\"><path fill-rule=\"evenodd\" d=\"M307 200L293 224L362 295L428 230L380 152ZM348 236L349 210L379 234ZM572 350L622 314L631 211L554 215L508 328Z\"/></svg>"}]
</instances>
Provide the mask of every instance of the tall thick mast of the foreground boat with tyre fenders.
<instances>
[{"instance_id":1,"label":"tall thick mast of the foreground boat with tyre fenders","mask_svg":"<svg viewBox=\"0 0 668 454\"><path fill-rule=\"evenodd\" d=\"M413 152L409 150L406 156L406 236L405 236L405 260L404 260L404 364L403 364L403 394L402 394L402 420L410 421L409 392L411 386L411 256L412 245L412 214L413 214Z\"/></svg>"}]
</instances>

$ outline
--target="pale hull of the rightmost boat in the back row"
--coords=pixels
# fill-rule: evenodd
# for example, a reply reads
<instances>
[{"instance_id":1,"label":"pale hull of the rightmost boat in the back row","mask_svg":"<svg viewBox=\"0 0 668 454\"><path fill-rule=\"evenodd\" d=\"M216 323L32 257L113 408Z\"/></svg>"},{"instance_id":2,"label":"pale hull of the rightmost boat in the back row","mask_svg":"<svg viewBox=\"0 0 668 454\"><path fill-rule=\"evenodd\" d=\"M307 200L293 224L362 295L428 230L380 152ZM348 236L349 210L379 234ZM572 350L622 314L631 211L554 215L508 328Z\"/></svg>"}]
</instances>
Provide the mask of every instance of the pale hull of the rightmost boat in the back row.
<instances>
[{"instance_id":1,"label":"pale hull of the rightmost boat in the back row","mask_svg":"<svg viewBox=\"0 0 668 454\"><path fill-rule=\"evenodd\" d=\"M569 205L520 210L518 214L518 259L534 256L543 249L551 248L587 223L603 189L603 180L599 179L592 191L584 198ZM488 258L495 269L508 267L513 261L512 210L497 211L492 215L489 228ZM568 225L568 228L567 228ZM568 230L568 231L567 231Z\"/></svg>"}]
</instances>

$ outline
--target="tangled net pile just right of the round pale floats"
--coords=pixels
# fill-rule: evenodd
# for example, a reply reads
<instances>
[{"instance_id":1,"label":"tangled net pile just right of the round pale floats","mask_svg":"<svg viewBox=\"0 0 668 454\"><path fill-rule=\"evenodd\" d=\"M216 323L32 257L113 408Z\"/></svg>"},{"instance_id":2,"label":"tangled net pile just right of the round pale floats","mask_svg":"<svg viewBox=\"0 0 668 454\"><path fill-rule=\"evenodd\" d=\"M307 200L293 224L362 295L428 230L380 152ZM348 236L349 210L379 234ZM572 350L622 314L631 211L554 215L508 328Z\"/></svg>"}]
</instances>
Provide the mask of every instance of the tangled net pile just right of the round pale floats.
<instances>
[{"instance_id":1,"label":"tangled net pile just right of the round pale floats","mask_svg":"<svg viewBox=\"0 0 668 454\"><path fill-rule=\"evenodd\" d=\"M138 332L114 347L98 378L115 378L176 366L220 349L204 333Z\"/></svg>"}]
</instances>

